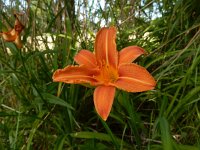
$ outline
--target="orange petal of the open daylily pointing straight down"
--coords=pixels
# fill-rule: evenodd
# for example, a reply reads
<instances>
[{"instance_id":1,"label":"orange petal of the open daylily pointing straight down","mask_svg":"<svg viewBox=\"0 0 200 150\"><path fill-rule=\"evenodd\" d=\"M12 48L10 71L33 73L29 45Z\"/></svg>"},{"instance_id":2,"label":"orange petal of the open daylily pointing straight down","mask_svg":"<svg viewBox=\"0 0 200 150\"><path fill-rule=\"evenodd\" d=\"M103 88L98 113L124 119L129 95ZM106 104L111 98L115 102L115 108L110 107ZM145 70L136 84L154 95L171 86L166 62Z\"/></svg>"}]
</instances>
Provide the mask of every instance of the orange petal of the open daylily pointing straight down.
<instances>
[{"instance_id":1,"label":"orange petal of the open daylily pointing straight down","mask_svg":"<svg viewBox=\"0 0 200 150\"><path fill-rule=\"evenodd\" d=\"M98 86L94 91L94 105L97 113L106 121L115 97L115 87Z\"/></svg>"}]
</instances>

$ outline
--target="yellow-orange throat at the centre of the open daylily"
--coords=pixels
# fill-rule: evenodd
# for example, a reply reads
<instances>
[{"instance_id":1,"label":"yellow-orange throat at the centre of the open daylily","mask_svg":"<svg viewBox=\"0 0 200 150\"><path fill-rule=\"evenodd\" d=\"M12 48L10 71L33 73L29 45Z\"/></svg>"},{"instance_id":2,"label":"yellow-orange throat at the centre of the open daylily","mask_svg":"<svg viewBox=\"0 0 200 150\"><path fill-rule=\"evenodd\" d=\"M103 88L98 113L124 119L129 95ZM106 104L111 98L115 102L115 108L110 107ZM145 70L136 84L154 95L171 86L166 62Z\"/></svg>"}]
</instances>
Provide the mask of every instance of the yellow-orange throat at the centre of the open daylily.
<instances>
[{"instance_id":1,"label":"yellow-orange throat at the centre of the open daylily","mask_svg":"<svg viewBox=\"0 0 200 150\"><path fill-rule=\"evenodd\" d=\"M118 79L118 71L108 64L103 64L96 78L104 84L114 83Z\"/></svg>"}]
</instances>

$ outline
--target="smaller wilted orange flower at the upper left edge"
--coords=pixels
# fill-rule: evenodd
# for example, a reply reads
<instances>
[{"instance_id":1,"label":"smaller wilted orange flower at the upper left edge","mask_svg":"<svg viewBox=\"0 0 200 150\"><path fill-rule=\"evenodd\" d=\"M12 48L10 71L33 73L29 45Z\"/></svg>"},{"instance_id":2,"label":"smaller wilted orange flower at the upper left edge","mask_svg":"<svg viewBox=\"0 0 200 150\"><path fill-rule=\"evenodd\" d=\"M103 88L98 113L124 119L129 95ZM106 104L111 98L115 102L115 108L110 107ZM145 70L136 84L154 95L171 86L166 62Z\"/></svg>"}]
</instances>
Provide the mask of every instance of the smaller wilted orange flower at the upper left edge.
<instances>
[{"instance_id":1,"label":"smaller wilted orange flower at the upper left edge","mask_svg":"<svg viewBox=\"0 0 200 150\"><path fill-rule=\"evenodd\" d=\"M18 48L22 47L21 39L20 39L20 33L24 29L24 25L19 21L19 18L16 14L15 16L15 24L14 28L11 29L8 32L1 32L0 35L3 37L3 39L7 42L14 42Z\"/></svg>"}]
</instances>

